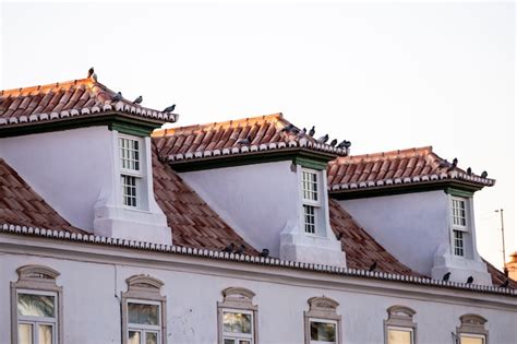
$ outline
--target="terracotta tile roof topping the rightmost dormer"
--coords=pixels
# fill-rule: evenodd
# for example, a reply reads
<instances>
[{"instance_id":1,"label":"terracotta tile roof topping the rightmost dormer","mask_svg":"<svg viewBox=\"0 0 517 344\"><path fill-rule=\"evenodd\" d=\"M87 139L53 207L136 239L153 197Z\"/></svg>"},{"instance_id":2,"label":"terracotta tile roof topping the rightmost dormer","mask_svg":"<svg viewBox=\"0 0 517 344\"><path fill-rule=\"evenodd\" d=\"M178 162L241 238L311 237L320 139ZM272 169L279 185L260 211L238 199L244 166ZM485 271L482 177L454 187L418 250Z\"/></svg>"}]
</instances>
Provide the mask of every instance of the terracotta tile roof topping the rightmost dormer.
<instances>
[{"instance_id":1,"label":"terracotta tile roof topping the rightmost dormer","mask_svg":"<svg viewBox=\"0 0 517 344\"><path fill-rule=\"evenodd\" d=\"M459 180L493 186L494 179L468 175L437 156L431 146L375 154L338 157L328 164L328 186L333 191L353 191L394 185Z\"/></svg>"}]
</instances>

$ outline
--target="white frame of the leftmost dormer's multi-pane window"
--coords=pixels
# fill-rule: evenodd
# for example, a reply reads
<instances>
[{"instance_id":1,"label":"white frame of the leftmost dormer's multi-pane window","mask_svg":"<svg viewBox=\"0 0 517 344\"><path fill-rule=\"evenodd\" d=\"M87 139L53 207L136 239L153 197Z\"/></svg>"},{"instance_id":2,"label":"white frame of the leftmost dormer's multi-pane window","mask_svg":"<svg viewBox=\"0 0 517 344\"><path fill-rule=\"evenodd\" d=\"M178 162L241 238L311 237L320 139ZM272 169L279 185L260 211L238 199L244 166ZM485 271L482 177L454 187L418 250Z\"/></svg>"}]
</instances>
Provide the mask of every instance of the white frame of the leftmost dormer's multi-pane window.
<instances>
[{"instance_id":1,"label":"white frame of the leftmost dormer's multi-pane window","mask_svg":"<svg viewBox=\"0 0 517 344\"><path fill-rule=\"evenodd\" d=\"M122 157L123 149L121 145L121 140L131 140L131 141L137 142L139 149L136 152L139 153L139 158L136 162L139 164L137 166L139 169L123 167L123 157ZM132 137L132 135L119 133L117 138L118 164L120 168L121 204L125 209L141 210L144 203L143 202L144 201L143 200L143 195L144 195L143 185L144 185L144 169L145 169L144 144L145 144L144 140L139 137ZM135 205L127 204L125 202L127 195L125 195L125 187L124 187L124 177L134 178L135 203L136 203Z\"/></svg>"}]
</instances>

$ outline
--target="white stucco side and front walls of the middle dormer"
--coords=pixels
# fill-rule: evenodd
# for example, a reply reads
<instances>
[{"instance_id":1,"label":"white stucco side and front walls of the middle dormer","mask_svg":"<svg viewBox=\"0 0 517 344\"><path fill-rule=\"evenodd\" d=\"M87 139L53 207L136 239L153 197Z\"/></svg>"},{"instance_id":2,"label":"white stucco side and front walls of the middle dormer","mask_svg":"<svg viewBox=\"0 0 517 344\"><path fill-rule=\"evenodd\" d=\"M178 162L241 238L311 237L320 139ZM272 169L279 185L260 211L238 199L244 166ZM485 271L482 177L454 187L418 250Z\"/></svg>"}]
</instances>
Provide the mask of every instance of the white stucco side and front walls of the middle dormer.
<instances>
[{"instance_id":1,"label":"white stucco side and front walls of the middle dormer","mask_svg":"<svg viewBox=\"0 0 517 344\"><path fill-rule=\"evenodd\" d=\"M326 175L320 178L315 235L304 233L301 166L291 161L181 173L244 240L287 260L345 265L340 242L328 218Z\"/></svg>"}]
</instances>

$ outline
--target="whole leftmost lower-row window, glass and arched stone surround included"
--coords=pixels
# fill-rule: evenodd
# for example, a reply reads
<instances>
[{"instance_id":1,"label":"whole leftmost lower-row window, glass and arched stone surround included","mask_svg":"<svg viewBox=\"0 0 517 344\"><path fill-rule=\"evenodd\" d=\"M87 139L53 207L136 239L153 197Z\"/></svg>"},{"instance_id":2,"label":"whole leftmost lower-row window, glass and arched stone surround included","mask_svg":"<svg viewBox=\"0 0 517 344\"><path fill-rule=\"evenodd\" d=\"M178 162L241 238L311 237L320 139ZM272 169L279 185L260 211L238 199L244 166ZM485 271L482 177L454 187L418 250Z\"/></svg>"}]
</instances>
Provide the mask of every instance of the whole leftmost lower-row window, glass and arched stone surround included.
<instances>
[{"instance_id":1,"label":"whole leftmost lower-row window, glass and arched stone surround included","mask_svg":"<svg viewBox=\"0 0 517 344\"><path fill-rule=\"evenodd\" d=\"M11 282L12 343L59 344L63 341L63 288L56 285L59 272L43 265L16 270Z\"/></svg>"}]
</instances>

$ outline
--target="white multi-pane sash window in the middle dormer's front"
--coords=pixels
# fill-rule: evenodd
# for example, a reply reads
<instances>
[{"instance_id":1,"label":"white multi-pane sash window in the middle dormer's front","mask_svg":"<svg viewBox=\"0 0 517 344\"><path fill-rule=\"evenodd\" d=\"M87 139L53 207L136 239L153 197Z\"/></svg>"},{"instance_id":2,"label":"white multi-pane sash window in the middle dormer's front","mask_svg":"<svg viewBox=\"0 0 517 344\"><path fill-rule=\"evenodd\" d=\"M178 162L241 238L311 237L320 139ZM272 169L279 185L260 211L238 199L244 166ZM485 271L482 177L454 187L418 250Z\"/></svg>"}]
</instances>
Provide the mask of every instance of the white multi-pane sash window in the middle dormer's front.
<instances>
[{"instance_id":1,"label":"white multi-pane sash window in the middle dormer's front","mask_svg":"<svg viewBox=\"0 0 517 344\"><path fill-rule=\"evenodd\" d=\"M318 171L302 169L303 220L306 234L316 234L317 210L321 207Z\"/></svg>"}]
</instances>

